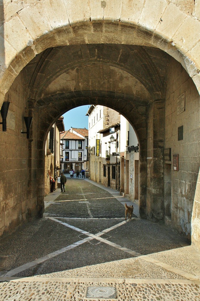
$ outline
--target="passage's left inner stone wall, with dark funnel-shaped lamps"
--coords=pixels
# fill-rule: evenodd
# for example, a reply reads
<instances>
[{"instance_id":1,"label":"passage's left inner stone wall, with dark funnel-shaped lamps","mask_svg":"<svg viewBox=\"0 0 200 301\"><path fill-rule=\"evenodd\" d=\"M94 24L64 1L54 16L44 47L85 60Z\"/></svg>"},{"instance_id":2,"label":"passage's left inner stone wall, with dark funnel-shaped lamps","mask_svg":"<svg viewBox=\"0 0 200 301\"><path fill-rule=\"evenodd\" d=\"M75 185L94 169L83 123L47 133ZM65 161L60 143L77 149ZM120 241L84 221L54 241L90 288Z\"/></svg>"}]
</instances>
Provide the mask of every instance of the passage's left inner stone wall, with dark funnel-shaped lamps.
<instances>
[{"instance_id":1,"label":"passage's left inner stone wall, with dark funnel-shaped lamps","mask_svg":"<svg viewBox=\"0 0 200 301\"><path fill-rule=\"evenodd\" d=\"M33 139L27 139L26 134L21 135L21 129L26 132L23 116L32 113L25 109L27 99L28 87L22 72L6 95L9 111L14 113L14 126L9 129L7 121L7 131L0 130L0 236L15 231L37 214L37 108L30 131Z\"/></svg>"}]
</instances>

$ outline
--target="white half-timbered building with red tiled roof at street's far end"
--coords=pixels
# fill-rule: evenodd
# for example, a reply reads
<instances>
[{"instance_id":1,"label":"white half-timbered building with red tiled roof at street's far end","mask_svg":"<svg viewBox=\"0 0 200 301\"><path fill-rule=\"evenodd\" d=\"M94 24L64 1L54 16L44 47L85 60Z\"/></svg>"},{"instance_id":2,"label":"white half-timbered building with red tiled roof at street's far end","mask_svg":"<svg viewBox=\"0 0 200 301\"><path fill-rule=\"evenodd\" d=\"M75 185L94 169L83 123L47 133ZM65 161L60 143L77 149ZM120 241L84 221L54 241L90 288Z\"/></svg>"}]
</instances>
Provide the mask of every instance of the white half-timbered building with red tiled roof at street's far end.
<instances>
[{"instance_id":1,"label":"white half-timbered building with red tiled roof at street's far end","mask_svg":"<svg viewBox=\"0 0 200 301\"><path fill-rule=\"evenodd\" d=\"M88 169L88 129L72 128L60 135L60 169Z\"/></svg>"}]
</instances>

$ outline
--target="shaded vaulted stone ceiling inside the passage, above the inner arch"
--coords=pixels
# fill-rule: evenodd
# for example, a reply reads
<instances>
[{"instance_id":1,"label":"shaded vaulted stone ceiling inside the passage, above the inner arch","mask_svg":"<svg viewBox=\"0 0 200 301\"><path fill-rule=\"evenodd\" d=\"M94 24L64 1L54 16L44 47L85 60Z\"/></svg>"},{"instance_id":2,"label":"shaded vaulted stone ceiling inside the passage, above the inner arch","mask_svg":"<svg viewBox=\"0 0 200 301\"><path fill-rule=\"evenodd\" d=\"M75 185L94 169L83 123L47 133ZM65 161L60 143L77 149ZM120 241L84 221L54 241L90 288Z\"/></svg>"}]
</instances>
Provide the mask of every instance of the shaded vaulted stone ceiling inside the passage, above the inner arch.
<instances>
[{"instance_id":1,"label":"shaded vaulted stone ceiling inside the passage, above the inner arch","mask_svg":"<svg viewBox=\"0 0 200 301\"><path fill-rule=\"evenodd\" d=\"M48 48L25 67L38 105L77 96L146 105L165 97L168 54L145 46L92 44Z\"/></svg>"}]
</instances>

